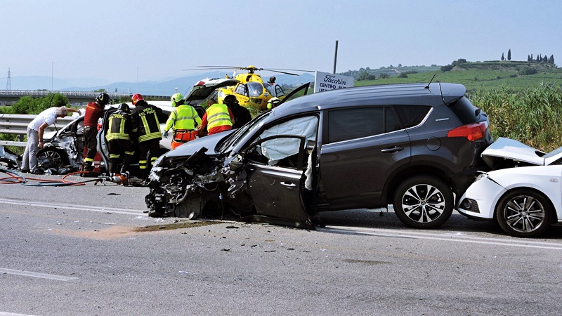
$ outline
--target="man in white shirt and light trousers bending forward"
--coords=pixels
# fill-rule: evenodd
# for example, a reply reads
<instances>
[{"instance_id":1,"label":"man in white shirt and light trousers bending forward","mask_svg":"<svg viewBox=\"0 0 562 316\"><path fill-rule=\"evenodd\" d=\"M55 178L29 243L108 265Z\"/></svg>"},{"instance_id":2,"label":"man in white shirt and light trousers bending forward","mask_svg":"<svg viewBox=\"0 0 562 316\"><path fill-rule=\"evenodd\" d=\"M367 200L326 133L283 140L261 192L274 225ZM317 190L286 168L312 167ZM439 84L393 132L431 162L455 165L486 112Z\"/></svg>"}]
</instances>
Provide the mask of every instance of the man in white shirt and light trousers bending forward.
<instances>
[{"instance_id":1,"label":"man in white shirt and light trousers bending forward","mask_svg":"<svg viewBox=\"0 0 562 316\"><path fill-rule=\"evenodd\" d=\"M77 112L67 107L49 107L39 113L33 121L27 125L27 146L23 152L22 172L42 174L43 171L37 167L37 152L43 148L43 133L47 126L53 124L57 117L66 117L68 112Z\"/></svg>"}]
</instances>

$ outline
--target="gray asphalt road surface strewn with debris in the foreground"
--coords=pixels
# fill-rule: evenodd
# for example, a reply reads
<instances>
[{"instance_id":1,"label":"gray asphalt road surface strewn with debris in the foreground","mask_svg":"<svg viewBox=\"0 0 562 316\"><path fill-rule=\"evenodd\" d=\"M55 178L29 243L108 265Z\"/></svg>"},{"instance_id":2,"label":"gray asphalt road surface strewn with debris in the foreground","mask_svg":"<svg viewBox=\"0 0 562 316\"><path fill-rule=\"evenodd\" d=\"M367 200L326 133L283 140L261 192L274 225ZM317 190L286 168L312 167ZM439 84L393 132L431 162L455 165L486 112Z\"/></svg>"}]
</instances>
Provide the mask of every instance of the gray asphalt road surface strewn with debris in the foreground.
<instances>
[{"instance_id":1,"label":"gray asphalt road surface strewn with debris in the foreground","mask_svg":"<svg viewBox=\"0 0 562 316\"><path fill-rule=\"evenodd\" d=\"M381 209L325 213L327 227L318 230L157 219L143 213L147 192L1 184L0 315L556 315L562 308L561 228L516 239L454 213L439 229L414 230Z\"/></svg>"}]
</instances>

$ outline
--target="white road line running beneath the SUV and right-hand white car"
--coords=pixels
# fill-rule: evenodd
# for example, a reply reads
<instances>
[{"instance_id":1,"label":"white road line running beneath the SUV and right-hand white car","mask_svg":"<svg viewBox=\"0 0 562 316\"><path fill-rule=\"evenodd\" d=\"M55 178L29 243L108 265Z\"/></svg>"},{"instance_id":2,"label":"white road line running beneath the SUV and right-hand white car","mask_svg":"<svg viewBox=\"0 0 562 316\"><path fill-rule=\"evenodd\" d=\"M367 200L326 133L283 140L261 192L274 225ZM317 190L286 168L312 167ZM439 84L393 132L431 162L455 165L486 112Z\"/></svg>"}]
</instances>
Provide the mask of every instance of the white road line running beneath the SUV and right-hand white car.
<instances>
[{"instance_id":1,"label":"white road line running beneath the SUV and right-hand white car","mask_svg":"<svg viewBox=\"0 0 562 316\"><path fill-rule=\"evenodd\" d=\"M562 250L562 244L559 242L535 242L529 239L497 239L490 237L476 237L458 235L450 232L445 233L431 233L431 232L408 232L405 230L384 230L384 229L371 229L371 228L357 228L357 227L339 227L327 226L326 228L317 228L318 231L324 232L339 232L339 233L355 233L363 235L373 235L381 237L395 237L395 238L414 238L414 239L433 239L442 240L445 242L467 242L473 244L493 244L499 246L515 246L522 248L538 248L538 249L552 249Z\"/></svg>"}]
</instances>

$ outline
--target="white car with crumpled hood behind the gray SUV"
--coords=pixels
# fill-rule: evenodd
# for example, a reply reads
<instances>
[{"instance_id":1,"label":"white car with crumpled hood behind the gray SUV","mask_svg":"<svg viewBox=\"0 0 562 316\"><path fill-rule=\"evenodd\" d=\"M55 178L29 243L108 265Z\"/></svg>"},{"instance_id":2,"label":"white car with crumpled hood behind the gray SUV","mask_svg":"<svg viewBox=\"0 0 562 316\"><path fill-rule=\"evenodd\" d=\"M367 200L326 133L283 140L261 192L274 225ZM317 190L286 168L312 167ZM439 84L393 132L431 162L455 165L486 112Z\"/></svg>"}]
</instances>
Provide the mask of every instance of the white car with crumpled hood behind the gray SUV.
<instances>
[{"instance_id":1,"label":"white car with crumpled hood behind the gray SUV","mask_svg":"<svg viewBox=\"0 0 562 316\"><path fill-rule=\"evenodd\" d=\"M499 138L482 157L496 170L476 178L459 200L459 213L497 220L513 237L537 237L562 223L562 147L546 153Z\"/></svg>"}]
</instances>

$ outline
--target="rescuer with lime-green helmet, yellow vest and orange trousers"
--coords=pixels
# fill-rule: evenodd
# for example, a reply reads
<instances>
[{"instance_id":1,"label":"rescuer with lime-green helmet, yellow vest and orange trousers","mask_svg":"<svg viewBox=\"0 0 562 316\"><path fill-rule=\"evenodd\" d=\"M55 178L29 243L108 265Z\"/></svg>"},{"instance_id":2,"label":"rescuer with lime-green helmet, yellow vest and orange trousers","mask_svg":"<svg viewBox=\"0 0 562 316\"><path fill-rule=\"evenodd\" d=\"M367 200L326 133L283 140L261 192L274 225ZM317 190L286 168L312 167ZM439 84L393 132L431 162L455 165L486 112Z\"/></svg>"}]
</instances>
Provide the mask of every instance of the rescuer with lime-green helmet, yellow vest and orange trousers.
<instances>
[{"instance_id":1,"label":"rescuer with lime-green helmet, yellow vest and orange trousers","mask_svg":"<svg viewBox=\"0 0 562 316\"><path fill-rule=\"evenodd\" d=\"M197 114L195 107L185 104L181 93L171 96L171 106L174 107L174 110L171 111L166 121L162 137L168 138L168 131L174 128L174 139L171 141L171 149L175 149L179 145L194 140L197 137L195 127L201 125L201 118Z\"/></svg>"}]
</instances>

